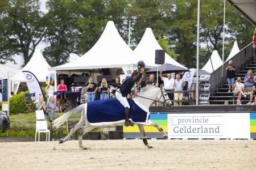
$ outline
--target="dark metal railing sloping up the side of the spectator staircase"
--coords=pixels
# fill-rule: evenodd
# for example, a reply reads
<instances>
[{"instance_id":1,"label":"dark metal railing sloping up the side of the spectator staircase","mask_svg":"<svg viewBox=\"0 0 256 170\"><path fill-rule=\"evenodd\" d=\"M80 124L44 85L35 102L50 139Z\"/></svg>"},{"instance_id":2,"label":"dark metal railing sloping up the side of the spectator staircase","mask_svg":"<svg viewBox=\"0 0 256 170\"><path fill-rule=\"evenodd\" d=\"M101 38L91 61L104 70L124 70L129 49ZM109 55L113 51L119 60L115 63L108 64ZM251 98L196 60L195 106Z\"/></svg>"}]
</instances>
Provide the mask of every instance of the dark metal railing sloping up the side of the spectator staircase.
<instances>
[{"instance_id":1,"label":"dark metal railing sloping up the side of the spectator staircase","mask_svg":"<svg viewBox=\"0 0 256 170\"><path fill-rule=\"evenodd\" d=\"M236 56L230 58L233 61L233 65L236 66L236 72L240 70L241 66L244 65L251 57L253 57L253 42L246 45L243 49L240 50L239 53L236 54ZM224 70L223 70L223 77L222 77L222 66L218 67L217 70L215 70L210 75L210 94L212 95L214 91L217 90L217 88L225 82L226 80L226 70L225 68L228 67L228 61L224 62Z\"/></svg>"}]
</instances>

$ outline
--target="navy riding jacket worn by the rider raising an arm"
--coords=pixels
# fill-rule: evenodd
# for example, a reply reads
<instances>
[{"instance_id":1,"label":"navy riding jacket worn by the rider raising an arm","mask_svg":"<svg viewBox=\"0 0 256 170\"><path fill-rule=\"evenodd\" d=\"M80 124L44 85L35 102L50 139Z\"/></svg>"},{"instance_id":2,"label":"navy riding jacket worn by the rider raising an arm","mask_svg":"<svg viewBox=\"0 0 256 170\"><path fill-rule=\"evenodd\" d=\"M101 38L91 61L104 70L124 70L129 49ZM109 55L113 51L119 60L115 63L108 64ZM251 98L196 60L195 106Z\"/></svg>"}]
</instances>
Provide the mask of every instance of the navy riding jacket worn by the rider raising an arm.
<instances>
[{"instance_id":1,"label":"navy riding jacket worn by the rider raising an arm","mask_svg":"<svg viewBox=\"0 0 256 170\"><path fill-rule=\"evenodd\" d=\"M122 83L120 87L120 91L122 93L123 97L127 97L128 94L131 92L131 88L133 88L135 82L138 82L139 79L141 79L142 73L139 73L135 79L132 77L125 80L125 82Z\"/></svg>"}]
</instances>

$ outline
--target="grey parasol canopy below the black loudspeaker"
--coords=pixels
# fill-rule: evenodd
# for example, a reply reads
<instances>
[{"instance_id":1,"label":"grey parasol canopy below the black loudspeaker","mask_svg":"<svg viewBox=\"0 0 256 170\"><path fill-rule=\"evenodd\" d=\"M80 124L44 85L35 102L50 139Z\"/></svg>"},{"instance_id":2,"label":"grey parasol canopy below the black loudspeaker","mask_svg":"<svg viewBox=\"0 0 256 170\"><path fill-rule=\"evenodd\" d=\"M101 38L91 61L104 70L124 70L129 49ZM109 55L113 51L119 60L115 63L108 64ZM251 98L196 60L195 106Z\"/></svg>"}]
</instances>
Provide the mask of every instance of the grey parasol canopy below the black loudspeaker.
<instances>
[{"instance_id":1,"label":"grey parasol canopy below the black loudspeaker","mask_svg":"<svg viewBox=\"0 0 256 170\"><path fill-rule=\"evenodd\" d=\"M158 66L159 71L164 71L164 73L177 73L182 71L189 71L188 69L185 69L184 67L179 67L172 65L170 63L164 63L163 65ZM150 70L147 70L146 73L156 73L157 67L154 67Z\"/></svg>"}]
</instances>

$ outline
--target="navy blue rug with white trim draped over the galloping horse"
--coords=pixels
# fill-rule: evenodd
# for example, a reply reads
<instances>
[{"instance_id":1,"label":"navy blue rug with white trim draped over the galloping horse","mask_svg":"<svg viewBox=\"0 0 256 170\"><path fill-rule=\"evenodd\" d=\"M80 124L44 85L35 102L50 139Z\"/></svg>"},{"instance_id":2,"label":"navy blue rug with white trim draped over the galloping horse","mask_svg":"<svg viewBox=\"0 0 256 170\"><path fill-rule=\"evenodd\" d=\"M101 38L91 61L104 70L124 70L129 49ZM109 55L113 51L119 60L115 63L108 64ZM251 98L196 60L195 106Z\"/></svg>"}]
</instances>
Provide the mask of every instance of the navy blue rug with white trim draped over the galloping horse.
<instances>
[{"instance_id":1,"label":"navy blue rug with white trim draped over the galloping horse","mask_svg":"<svg viewBox=\"0 0 256 170\"><path fill-rule=\"evenodd\" d=\"M130 104L129 118L139 124L147 124L149 114L137 104L133 99L128 99ZM86 117L90 125L109 125L125 122L125 108L118 100L95 100L87 104Z\"/></svg>"}]
</instances>

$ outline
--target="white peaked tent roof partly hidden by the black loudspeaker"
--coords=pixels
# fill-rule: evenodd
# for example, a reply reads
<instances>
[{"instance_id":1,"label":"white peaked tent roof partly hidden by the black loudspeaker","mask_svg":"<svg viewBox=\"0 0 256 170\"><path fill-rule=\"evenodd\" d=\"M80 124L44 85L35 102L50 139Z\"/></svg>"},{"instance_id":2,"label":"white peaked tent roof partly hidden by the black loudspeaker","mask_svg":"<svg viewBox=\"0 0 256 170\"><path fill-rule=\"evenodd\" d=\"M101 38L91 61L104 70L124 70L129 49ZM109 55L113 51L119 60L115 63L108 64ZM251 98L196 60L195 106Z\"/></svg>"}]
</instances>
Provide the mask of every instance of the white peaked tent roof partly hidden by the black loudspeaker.
<instances>
[{"instance_id":1,"label":"white peaked tent roof partly hidden by the black loudspeaker","mask_svg":"<svg viewBox=\"0 0 256 170\"><path fill-rule=\"evenodd\" d=\"M148 66L156 66L155 50L157 49L162 49L162 47L158 44L158 41L155 39L152 29L146 28L146 31L144 32L141 41L134 49L135 56L143 60ZM165 63L170 63L172 65L187 69L187 67L184 67L179 62L175 61L167 53L165 54Z\"/></svg>"}]
</instances>

